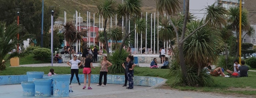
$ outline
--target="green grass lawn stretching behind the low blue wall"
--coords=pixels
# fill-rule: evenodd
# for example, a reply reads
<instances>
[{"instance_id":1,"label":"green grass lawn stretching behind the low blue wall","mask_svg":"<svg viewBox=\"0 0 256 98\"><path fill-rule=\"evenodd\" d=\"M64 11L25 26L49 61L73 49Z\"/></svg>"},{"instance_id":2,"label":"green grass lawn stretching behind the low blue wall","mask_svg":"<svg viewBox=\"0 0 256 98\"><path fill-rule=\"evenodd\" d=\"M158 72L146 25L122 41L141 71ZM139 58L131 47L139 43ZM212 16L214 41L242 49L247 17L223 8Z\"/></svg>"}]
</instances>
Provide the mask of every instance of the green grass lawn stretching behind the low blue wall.
<instances>
[{"instance_id":1,"label":"green grass lawn stretching behind the low blue wall","mask_svg":"<svg viewBox=\"0 0 256 98\"><path fill-rule=\"evenodd\" d=\"M20 59L20 65L22 64L36 64L36 63L49 63L43 61L36 61L33 56L27 56ZM70 74L70 67L10 67L10 61L6 63L6 70L0 71L0 75L25 75L27 71L43 71L45 74L49 72L49 69L53 68L57 74ZM252 68L249 68L252 70ZM100 67L92 68L92 74L99 74ZM149 67L135 67L134 75L136 76L153 76L165 78L167 85L172 82L172 76L169 75L169 69L151 69ZM227 74L227 72L225 72ZM79 69L79 74L82 74L82 69ZM110 73L108 73L110 74ZM172 87L178 90L186 91L200 91L210 93L221 94L236 94L256 97L256 72L248 72L248 77L242 78L223 78L221 76L213 77L213 87L189 87L189 86L175 86ZM123 75L120 73L118 75ZM171 87L170 87L171 88Z\"/></svg>"}]
</instances>

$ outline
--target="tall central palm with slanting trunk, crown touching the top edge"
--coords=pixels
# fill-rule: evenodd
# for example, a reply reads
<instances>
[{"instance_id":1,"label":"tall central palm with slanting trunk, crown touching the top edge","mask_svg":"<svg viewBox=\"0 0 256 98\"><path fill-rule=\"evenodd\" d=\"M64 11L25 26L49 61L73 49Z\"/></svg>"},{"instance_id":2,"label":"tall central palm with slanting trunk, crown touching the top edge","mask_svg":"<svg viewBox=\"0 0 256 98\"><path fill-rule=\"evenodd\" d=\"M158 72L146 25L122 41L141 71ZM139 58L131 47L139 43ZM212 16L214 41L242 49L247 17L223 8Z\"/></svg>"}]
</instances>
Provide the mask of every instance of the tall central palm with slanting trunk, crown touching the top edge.
<instances>
[{"instance_id":1,"label":"tall central palm with slanting trunk, crown touching the top edge","mask_svg":"<svg viewBox=\"0 0 256 98\"><path fill-rule=\"evenodd\" d=\"M125 33L124 33L122 44L119 48L120 51L122 50L123 46L125 45L126 39L129 37L131 32L134 31L134 30L132 30L129 32L128 22L132 18L132 16L140 16L141 15L141 9L140 9L141 7L142 7L142 0L124 0L123 4L118 5L117 15L119 17L122 17L122 16L125 17ZM140 26L140 24L137 24L137 25ZM137 29L142 29L142 28L137 27Z\"/></svg>"}]
</instances>

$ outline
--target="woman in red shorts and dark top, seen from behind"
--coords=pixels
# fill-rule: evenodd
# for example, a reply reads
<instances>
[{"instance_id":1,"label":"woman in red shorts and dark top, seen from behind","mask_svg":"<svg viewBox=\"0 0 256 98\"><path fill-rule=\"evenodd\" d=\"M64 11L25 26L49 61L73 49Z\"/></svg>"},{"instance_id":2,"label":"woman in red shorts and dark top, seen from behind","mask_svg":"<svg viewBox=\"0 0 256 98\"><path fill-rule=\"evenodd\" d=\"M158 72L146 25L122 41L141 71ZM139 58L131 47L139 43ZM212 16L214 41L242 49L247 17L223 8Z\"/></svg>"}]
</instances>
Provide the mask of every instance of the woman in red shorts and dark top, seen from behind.
<instances>
[{"instance_id":1,"label":"woman in red shorts and dark top, seen from behind","mask_svg":"<svg viewBox=\"0 0 256 98\"><path fill-rule=\"evenodd\" d=\"M84 87L83 89L86 88L86 79L87 79L87 75L88 75L88 90L92 89L90 87L90 83L91 83L91 68L95 68L92 66L92 56L88 55L88 57L85 59L85 66L84 66L84 70L83 73L85 75L85 79L84 79Z\"/></svg>"}]
</instances>

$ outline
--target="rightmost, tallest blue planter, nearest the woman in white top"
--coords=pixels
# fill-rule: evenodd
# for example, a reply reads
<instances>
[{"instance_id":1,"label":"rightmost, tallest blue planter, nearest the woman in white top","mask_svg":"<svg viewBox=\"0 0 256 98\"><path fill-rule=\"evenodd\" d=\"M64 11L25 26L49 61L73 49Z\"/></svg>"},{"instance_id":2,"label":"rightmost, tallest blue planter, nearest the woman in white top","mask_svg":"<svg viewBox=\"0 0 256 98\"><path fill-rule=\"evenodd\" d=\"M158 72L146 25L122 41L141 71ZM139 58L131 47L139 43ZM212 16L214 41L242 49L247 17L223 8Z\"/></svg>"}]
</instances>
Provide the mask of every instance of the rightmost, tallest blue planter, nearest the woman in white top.
<instances>
[{"instance_id":1,"label":"rightmost, tallest blue planter, nearest the woman in white top","mask_svg":"<svg viewBox=\"0 0 256 98\"><path fill-rule=\"evenodd\" d=\"M52 75L53 97L69 97L70 74Z\"/></svg>"}]
</instances>

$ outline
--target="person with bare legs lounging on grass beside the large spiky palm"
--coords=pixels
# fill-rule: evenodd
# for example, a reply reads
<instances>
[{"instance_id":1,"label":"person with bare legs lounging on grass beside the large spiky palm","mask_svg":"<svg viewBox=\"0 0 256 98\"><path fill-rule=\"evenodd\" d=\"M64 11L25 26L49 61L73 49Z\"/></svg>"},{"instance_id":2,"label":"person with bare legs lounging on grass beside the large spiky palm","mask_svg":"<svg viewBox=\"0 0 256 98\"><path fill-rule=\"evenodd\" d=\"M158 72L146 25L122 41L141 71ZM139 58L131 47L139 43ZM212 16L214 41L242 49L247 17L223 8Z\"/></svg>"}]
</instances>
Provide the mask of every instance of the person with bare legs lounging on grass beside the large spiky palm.
<instances>
[{"instance_id":1,"label":"person with bare legs lounging on grass beside the large spiky palm","mask_svg":"<svg viewBox=\"0 0 256 98\"><path fill-rule=\"evenodd\" d=\"M228 75L225 75L225 73L222 71L222 68L220 68L220 67L218 67L218 68L216 68L214 70L209 69L208 66L210 66L210 65L211 65L211 63L208 62L207 65L205 65L205 67L203 68L203 70L206 70L206 73L209 73L212 76L219 76L219 75L221 75L223 77L230 77Z\"/></svg>"}]
</instances>

